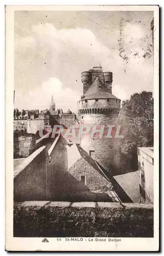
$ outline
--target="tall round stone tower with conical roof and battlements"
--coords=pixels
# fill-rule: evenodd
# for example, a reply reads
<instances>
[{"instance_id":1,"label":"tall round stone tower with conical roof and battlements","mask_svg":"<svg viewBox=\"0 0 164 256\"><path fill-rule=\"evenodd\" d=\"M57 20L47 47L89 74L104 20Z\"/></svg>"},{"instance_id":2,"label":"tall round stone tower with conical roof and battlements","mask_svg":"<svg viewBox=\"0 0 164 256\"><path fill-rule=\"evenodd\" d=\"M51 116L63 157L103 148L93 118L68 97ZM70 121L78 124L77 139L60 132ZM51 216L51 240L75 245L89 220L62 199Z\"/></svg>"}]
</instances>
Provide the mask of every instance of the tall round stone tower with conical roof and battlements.
<instances>
[{"instance_id":1,"label":"tall round stone tower with conical roof and battlements","mask_svg":"<svg viewBox=\"0 0 164 256\"><path fill-rule=\"evenodd\" d=\"M120 112L121 100L111 94L111 72L103 73L102 67L93 67L89 73L92 83L78 101L82 131L80 144L92 158L110 171L115 161L114 127L111 128L111 125L114 126Z\"/></svg>"}]
</instances>

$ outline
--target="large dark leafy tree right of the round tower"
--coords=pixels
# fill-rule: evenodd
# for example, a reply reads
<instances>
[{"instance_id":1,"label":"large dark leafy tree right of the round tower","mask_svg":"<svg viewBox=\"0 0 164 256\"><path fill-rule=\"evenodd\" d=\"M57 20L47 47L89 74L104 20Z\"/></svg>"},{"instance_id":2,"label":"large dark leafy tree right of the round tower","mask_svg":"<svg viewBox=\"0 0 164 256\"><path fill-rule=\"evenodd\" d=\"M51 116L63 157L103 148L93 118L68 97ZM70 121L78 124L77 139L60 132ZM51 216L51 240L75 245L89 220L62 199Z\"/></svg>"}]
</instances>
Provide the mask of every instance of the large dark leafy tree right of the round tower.
<instances>
[{"instance_id":1,"label":"large dark leafy tree right of the round tower","mask_svg":"<svg viewBox=\"0 0 164 256\"><path fill-rule=\"evenodd\" d=\"M137 168L137 147L153 146L154 100L152 92L135 93L122 103L118 123L124 139L120 140L122 157Z\"/></svg>"}]
</instances>

